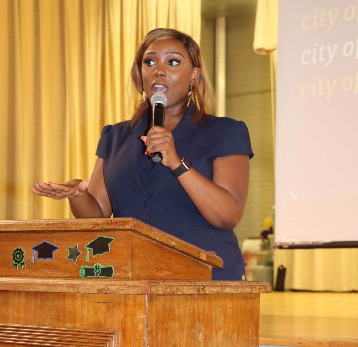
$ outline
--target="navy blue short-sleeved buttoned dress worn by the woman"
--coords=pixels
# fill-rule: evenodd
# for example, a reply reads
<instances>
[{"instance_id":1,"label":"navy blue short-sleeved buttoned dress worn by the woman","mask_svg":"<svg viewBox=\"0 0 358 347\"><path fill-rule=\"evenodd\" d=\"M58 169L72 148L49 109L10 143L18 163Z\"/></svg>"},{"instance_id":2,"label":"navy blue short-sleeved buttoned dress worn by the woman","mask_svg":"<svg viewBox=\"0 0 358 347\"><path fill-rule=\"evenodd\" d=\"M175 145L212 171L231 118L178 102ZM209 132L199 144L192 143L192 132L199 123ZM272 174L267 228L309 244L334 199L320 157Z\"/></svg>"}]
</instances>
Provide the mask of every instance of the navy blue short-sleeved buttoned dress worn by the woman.
<instances>
[{"instance_id":1,"label":"navy blue short-sleeved buttoned dress worn by the woman","mask_svg":"<svg viewBox=\"0 0 358 347\"><path fill-rule=\"evenodd\" d=\"M179 157L188 157L193 168L209 180L213 161L233 154L253 156L245 123L210 116L191 124L189 107L171 132ZM148 117L135 126L124 121L105 126L96 155L103 158L103 171L113 217L133 217L223 259L223 269L213 269L212 279L241 280L245 267L234 232L210 225L189 199L168 167L144 154L140 139L146 134Z\"/></svg>"}]
</instances>

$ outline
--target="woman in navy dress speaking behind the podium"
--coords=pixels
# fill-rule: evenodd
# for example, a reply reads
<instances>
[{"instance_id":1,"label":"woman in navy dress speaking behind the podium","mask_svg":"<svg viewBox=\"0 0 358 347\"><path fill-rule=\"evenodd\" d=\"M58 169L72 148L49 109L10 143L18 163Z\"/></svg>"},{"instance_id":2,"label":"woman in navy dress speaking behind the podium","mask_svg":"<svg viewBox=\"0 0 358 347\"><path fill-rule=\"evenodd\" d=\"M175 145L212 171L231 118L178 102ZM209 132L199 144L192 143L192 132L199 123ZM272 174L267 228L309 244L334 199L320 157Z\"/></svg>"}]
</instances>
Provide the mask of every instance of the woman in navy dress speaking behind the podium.
<instances>
[{"instance_id":1,"label":"woman in navy dress speaking behind the podium","mask_svg":"<svg viewBox=\"0 0 358 347\"><path fill-rule=\"evenodd\" d=\"M142 103L131 121L105 126L91 180L40 180L34 194L68 198L76 218L133 217L223 259L212 279L245 278L233 228L245 209L249 158L245 123L211 116L214 97L200 49L173 29L150 31L131 69ZM166 97L164 127L151 126L150 99ZM160 153L161 161L150 160Z\"/></svg>"}]
</instances>

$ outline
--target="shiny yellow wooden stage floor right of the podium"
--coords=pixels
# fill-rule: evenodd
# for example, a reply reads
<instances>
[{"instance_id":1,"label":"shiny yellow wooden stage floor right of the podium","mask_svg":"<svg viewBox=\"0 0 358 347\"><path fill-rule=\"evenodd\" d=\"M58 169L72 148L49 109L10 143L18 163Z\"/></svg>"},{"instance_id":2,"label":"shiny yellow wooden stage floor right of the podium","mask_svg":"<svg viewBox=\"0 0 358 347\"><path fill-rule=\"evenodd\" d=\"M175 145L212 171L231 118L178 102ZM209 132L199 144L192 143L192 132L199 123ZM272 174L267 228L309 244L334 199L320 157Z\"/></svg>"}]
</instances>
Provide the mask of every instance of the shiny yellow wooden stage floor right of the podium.
<instances>
[{"instance_id":1,"label":"shiny yellow wooden stage floor right of the podium","mask_svg":"<svg viewBox=\"0 0 358 347\"><path fill-rule=\"evenodd\" d=\"M358 293L272 292L260 301L260 345L358 346Z\"/></svg>"}]
</instances>

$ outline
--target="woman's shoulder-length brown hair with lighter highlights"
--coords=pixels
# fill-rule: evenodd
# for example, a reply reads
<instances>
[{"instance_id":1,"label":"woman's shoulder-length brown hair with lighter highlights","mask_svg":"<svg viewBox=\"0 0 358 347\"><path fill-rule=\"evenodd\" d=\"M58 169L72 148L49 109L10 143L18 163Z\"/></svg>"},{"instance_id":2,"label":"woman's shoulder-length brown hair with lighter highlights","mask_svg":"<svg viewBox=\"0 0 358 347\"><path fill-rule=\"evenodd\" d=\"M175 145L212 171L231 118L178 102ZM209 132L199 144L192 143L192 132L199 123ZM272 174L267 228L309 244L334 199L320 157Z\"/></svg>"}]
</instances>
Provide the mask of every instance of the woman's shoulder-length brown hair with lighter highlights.
<instances>
[{"instance_id":1,"label":"woman's shoulder-length brown hair with lighter highlights","mask_svg":"<svg viewBox=\"0 0 358 347\"><path fill-rule=\"evenodd\" d=\"M189 35L184 34L181 31L175 29L154 29L145 36L137 48L134 63L131 69L131 78L135 89L137 89L140 94L143 93L142 60L146 49L152 43L165 39L175 39L181 42L189 53L193 67L201 69L200 76L192 88L192 102L194 102L196 107L196 112L193 116L193 123L198 121L205 122L208 119L209 114L214 112L214 89L208 78L198 44ZM139 121L148 108L148 102L140 103L132 117L132 123ZM187 105L185 104L182 111L184 112L186 108Z\"/></svg>"}]
</instances>

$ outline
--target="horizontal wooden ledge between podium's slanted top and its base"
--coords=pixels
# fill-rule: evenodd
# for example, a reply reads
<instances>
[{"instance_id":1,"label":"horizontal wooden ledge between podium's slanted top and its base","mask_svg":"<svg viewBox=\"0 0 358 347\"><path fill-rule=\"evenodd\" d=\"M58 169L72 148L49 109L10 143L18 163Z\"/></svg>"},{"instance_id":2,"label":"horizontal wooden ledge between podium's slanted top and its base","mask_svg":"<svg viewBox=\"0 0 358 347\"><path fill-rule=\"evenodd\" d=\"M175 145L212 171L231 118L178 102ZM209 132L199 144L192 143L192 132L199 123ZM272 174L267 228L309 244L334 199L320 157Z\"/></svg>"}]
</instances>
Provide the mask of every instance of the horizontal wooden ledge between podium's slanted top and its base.
<instances>
[{"instance_id":1,"label":"horizontal wooden ledge between podium's slanted top and its base","mask_svg":"<svg viewBox=\"0 0 358 347\"><path fill-rule=\"evenodd\" d=\"M0 291L133 294L133 295L211 295L270 293L267 282L106 280L100 278L55 279L0 277Z\"/></svg>"}]
</instances>

